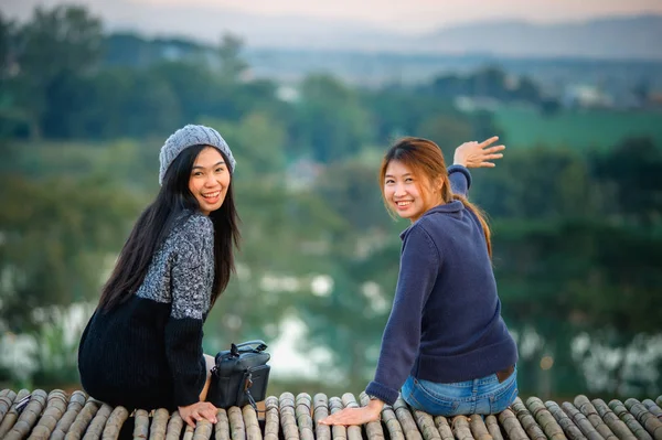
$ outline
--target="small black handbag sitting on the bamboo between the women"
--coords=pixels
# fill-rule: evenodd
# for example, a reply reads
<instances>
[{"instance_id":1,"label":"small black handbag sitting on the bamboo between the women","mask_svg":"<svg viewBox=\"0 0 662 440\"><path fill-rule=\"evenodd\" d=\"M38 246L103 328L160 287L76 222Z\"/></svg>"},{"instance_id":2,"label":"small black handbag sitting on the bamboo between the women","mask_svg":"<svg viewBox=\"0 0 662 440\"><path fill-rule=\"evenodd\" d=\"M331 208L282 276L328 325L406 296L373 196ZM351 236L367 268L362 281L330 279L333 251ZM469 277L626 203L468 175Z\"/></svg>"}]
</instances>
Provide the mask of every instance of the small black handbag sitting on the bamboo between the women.
<instances>
[{"instance_id":1,"label":"small black handbag sitting on the bamboo between the women","mask_svg":"<svg viewBox=\"0 0 662 440\"><path fill-rule=\"evenodd\" d=\"M248 341L218 352L206 400L216 408L250 404L257 410L255 403L266 398L271 369L267 365L271 356L265 350L263 341Z\"/></svg>"}]
</instances>

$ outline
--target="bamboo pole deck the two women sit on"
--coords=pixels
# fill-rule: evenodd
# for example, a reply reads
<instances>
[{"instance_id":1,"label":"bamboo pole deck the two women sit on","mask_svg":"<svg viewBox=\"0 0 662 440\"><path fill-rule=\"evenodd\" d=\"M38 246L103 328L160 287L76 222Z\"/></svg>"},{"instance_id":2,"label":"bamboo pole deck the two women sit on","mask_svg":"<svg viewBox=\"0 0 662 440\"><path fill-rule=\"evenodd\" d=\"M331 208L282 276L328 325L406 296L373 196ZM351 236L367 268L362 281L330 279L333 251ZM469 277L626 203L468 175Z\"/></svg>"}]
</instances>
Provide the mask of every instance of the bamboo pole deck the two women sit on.
<instances>
[{"instance_id":1,"label":"bamboo pole deck the two women sit on","mask_svg":"<svg viewBox=\"0 0 662 440\"><path fill-rule=\"evenodd\" d=\"M662 440L662 396L655 400L611 400L577 396L573 403L517 400L487 417L433 417L402 399L386 406L382 420L362 427L327 427L317 421L344 407L367 404L351 394L284 393L264 401L264 414L250 407L218 410L218 422L185 426L179 414L159 409L129 414L88 398L83 391L46 394L38 389L19 414L15 404L30 391L0 391L0 439L150 439L150 440Z\"/></svg>"}]
</instances>

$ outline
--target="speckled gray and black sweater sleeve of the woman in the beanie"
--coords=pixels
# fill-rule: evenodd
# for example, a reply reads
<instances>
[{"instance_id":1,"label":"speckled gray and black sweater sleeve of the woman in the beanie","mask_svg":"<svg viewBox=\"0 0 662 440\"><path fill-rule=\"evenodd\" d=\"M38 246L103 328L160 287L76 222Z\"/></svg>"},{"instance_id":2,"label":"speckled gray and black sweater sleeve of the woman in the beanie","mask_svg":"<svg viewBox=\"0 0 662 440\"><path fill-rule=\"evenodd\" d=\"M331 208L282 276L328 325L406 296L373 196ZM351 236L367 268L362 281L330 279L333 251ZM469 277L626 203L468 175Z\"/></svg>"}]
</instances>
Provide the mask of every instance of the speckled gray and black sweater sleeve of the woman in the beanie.
<instances>
[{"instance_id":1,"label":"speckled gray and black sweater sleeve of the woman in the beanie","mask_svg":"<svg viewBox=\"0 0 662 440\"><path fill-rule=\"evenodd\" d=\"M206 380L202 337L211 297L210 265L213 273L213 260L209 257L213 235L206 235L203 228L182 238L171 269L172 309L166 324L166 355L178 407L200 401Z\"/></svg>"}]
</instances>

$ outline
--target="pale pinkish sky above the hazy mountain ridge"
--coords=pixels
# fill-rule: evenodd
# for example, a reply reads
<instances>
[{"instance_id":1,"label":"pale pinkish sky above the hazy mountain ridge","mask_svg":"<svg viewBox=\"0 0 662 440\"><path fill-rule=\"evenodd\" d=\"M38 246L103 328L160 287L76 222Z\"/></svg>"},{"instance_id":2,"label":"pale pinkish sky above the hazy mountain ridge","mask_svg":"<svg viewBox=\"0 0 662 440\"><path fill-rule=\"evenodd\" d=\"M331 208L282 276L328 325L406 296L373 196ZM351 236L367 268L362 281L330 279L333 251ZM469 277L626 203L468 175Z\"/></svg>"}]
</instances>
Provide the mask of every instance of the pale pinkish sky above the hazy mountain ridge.
<instances>
[{"instance_id":1,"label":"pale pinkish sky above the hazy mountain ridge","mask_svg":"<svg viewBox=\"0 0 662 440\"><path fill-rule=\"evenodd\" d=\"M547 23L605 15L662 14L662 0L74 0L89 4L110 19L161 7L209 11L235 11L261 15L341 19L401 32L425 32L436 28L493 19L523 19ZM25 18L35 3L53 6L62 0L2 0L0 10ZM153 8L149 8L153 10ZM146 23L149 17L141 17Z\"/></svg>"}]
</instances>

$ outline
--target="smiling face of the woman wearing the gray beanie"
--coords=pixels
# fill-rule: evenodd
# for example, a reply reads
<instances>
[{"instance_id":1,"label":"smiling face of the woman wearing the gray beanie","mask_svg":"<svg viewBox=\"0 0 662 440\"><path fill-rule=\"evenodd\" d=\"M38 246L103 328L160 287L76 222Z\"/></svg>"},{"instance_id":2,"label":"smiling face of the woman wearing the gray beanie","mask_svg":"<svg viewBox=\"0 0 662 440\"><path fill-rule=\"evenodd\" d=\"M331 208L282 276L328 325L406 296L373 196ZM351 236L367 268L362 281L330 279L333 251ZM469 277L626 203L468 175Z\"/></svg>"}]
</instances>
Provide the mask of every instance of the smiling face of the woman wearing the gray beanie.
<instances>
[{"instance_id":1,"label":"smiling face of the woman wearing the gray beanie","mask_svg":"<svg viewBox=\"0 0 662 440\"><path fill-rule=\"evenodd\" d=\"M218 150L206 147L197 154L189 178L189 191L204 215L223 205L229 180L229 170Z\"/></svg>"}]
</instances>

